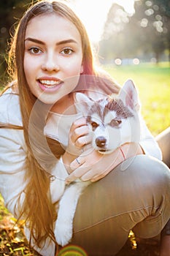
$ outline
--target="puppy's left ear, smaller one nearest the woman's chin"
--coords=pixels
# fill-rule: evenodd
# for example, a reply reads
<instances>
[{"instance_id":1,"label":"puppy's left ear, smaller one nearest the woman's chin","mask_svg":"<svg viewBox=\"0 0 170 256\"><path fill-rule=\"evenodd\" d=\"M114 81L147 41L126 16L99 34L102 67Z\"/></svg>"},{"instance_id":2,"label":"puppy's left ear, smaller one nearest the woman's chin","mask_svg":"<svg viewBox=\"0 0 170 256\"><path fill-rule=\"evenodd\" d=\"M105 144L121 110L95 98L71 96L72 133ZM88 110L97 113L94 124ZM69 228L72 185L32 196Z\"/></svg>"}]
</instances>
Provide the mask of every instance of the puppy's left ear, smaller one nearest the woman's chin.
<instances>
[{"instance_id":1,"label":"puppy's left ear, smaller one nearest the woman's chin","mask_svg":"<svg viewBox=\"0 0 170 256\"><path fill-rule=\"evenodd\" d=\"M90 110L91 106L94 104L93 100L90 99L85 94L77 92L76 94L76 108L80 112L83 113L84 116L87 116L88 110Z\"/></svg>"}]
</instances>

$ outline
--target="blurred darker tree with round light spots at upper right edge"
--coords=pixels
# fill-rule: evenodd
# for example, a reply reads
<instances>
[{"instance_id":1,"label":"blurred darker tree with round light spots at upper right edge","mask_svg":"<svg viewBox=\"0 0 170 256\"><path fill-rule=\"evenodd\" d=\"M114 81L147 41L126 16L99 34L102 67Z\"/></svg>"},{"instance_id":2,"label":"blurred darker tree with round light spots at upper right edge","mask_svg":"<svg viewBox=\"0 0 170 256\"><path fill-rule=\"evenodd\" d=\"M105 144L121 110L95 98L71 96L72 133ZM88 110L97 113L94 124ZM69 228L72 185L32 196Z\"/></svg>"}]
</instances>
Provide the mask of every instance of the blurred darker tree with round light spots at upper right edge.
<instances>
[{"instance_id":1,"label":"blurred darker tree with round light spots at upper right edge","mask_svg":"<svg viewBox=\"0 0 170 256\"><path fill-rule=\"evenodd\" d=\"M138 31L136 37L142 41L142 50L155 53L159 61L169 42L169 4L166 0L142 0L136 1L134 8L130 23L136 26L134 31Z\"/></svg>"}]
</instances>

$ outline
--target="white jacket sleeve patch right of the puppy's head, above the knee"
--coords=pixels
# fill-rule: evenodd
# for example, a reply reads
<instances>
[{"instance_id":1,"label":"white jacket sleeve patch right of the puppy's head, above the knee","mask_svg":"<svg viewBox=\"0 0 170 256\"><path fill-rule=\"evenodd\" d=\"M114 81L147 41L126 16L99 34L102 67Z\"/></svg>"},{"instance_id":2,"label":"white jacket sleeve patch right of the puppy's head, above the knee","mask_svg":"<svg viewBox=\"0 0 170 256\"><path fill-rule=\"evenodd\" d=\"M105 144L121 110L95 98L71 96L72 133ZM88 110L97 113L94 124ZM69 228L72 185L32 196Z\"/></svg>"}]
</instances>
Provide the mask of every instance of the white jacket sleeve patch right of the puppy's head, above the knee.
<instances>
[{"instance_id":1,"label":"white jacket sleeve patch right of the puppy's head, above the knee","mask_svg":"<svg viewBox=\"0 0 170 256\"><path fill-rule=\"evenodd\" d=\"M161 148L159 148L158 143L155 138L152 136L150 130L147 128L147 125L144 122L144 119L141 117L141 136L140 136L140 145L144 150L144 154L148 154L152 157L156 157L159 160L162 159Z\"/></svg>"}]
</instances>

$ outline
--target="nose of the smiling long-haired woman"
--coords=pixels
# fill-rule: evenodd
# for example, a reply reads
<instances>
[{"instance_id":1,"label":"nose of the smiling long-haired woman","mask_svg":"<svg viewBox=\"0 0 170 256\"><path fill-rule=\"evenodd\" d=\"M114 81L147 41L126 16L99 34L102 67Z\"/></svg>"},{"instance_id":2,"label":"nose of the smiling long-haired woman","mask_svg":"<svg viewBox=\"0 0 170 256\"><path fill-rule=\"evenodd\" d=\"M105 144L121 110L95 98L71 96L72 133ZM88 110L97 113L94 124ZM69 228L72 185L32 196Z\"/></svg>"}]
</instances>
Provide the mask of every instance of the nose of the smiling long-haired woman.
<instances>
[{"instance_id":1,"label":"nose of the smiling long-haired woman","mask_svg":"<svg viewBox=\"0 0 170 256\"><path fill-rule=\"evenodd\" d=\"M42 70L47 72L58 72L60 69L55 53L47 53L42 63Z\"/></svg>"}]
</instances>

